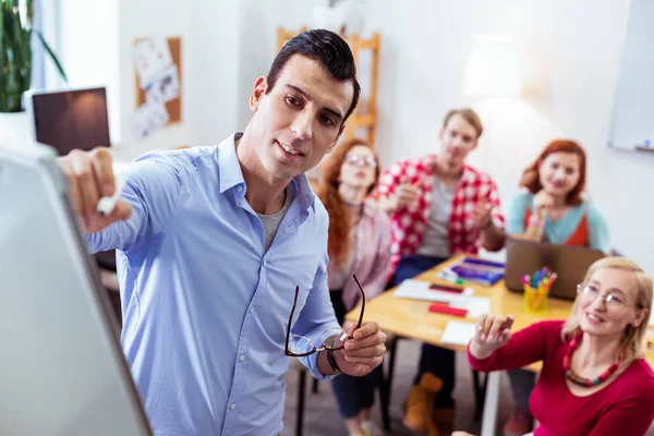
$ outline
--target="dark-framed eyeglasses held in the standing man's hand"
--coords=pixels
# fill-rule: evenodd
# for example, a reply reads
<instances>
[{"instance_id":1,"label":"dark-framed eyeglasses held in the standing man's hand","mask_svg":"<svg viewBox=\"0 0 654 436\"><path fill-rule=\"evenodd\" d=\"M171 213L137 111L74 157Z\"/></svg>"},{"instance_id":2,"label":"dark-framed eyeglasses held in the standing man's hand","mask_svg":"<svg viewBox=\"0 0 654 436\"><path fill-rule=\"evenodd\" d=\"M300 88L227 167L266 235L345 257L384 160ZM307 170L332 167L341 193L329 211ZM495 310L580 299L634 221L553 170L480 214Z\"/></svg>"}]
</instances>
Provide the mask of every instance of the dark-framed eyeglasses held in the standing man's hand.
<instances>
[{"instance_id":1,"label":"dark-framed eyeglasses held in the standing man's hand","mask_svg":"<svg viewBox=\"0 0 654 436\"><path fill-rule=\"evenodd\" d=\"M363 288L361 287L356 276L353 275L352 277L354 278L354 281L361 291L361 314L359 314L359 323L356 324L356 329L360 329L361 323L363 322L363 312L365 310L365 292L363 292ZM293 300L293 308L291 308L291 316L289 316L289 324L287 327L284 354L293 358L302 358L305 355L311 355L317 351L342 350L346 347L346 341L352 338L341 327L331 327L323 331L323 335L320 336L320 340L323 342L322 348L316 348L316 346L313 343L313 340L305 338L304 336L291 335L291 323L293 322L293 313L295 312L295 306L298 305L299 294L300 287L295 287L295 299Z\"/></svg>"}]
</instances>

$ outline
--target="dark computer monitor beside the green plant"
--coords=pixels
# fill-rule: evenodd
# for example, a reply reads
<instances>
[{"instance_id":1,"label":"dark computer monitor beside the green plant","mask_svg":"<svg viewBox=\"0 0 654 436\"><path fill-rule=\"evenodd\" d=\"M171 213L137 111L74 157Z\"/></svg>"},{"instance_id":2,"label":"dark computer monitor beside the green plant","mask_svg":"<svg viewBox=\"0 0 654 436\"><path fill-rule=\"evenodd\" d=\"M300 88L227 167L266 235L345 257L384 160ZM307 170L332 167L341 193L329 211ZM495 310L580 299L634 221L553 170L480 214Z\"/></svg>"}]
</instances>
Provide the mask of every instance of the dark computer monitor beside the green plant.
<instances>
[{"instance_id":1,"label":"dark computer monitor beside the green plant","mask_svg":"<svg viewBox=\"0 0 654 436\"><path fill-rule=\"evenodd\" d=\"M34 122L33 138L55 147L59 155L111 145L104 87L29 92L25 106Z\"/></svg>"}]
</instances>

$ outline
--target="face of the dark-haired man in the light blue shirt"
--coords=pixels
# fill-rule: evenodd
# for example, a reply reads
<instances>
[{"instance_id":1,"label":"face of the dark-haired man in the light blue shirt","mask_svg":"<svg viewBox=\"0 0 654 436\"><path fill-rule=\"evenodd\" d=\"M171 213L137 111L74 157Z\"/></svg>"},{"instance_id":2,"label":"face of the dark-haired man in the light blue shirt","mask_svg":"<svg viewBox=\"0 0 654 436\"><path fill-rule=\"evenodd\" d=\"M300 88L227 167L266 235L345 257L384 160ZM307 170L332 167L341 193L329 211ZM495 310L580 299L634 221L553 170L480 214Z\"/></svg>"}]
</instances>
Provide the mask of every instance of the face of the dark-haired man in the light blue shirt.
<instances>
[{"instance_id":1,"label":"face of the dark-haired man in the light blue shirt","mask_svg":"<svg viewBox=\"0 0 654 436\"><path fill-rule=\"evenodd\" d=\"M259 77L250 97L256 153L269 174L292 179L331 152L343 131L354 87L299 55L288 60L268 94L267 86L266 77Z\"/></svg>"}]
</instances>

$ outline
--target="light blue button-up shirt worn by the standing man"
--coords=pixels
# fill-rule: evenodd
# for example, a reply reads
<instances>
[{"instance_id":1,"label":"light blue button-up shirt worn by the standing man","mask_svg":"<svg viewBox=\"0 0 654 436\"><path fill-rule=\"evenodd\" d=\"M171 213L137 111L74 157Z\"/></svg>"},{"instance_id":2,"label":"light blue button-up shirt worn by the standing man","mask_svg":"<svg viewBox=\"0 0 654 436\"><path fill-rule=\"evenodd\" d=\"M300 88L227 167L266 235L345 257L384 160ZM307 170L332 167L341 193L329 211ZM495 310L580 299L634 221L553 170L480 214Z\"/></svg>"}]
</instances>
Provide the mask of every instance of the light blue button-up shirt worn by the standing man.
<instances>
[{"instance_id":1,"label":"light blue button-up shirt worn by the standing man","mask_svg":"<svg viewBox=\"0 0 654 436\"><path fill-rule=\"evenodd\" d=\"M327 288L328 216L304 174L264 252L234 136L150 153L122 197L129 220L86 237L117 249L121 342L156 435L271 436L282 428L288 317L320 347L338 327ZM302 359L316 378L317 353Z\"/></svg>"}]
</instances>

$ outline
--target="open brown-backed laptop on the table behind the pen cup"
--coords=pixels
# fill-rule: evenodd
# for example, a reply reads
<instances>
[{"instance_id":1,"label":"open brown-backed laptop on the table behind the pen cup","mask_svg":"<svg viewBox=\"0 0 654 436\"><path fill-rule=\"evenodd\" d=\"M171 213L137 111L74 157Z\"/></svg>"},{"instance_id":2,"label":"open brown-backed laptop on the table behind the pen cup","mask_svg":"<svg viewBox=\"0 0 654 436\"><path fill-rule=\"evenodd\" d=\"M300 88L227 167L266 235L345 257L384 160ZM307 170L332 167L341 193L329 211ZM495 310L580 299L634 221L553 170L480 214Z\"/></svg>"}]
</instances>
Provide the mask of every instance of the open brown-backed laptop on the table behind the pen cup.
<instances>
[{"instance_id":1,"label":"open brown-backed laptop on the table behind the pen cup","mask_svg":"<svg viewBox=\"0 0 654 436\"><path fill-rule=\"evenodd\" d=\"M577 284L581 283L586 270L604 257L598 250L577 245L559 245L509 238L506 243L507 262L505 284L511 291L522 292L522 276L533 276L543 267L557 274L549 295L574 300Z\"/></svg>"}]
</instances>

